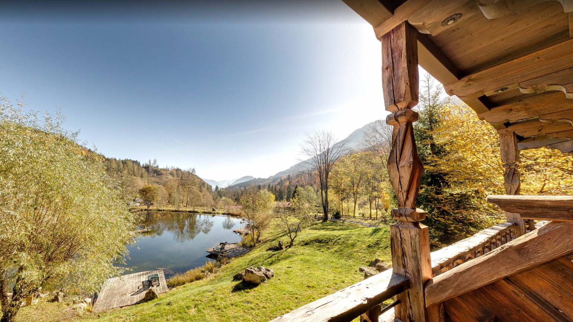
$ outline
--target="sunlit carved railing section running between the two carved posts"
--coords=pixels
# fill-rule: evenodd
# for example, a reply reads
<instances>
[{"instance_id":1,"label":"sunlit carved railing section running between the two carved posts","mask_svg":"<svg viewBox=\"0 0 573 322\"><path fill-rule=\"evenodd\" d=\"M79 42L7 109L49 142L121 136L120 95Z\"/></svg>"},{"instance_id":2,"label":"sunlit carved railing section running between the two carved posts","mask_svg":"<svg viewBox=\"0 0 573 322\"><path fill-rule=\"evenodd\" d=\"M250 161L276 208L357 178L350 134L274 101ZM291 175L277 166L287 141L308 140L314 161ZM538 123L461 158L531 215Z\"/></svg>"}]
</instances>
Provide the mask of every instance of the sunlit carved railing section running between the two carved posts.
<instances>
[{"instance_id":1,"label":"sunlit carved railing section running between the two carved posts","mask_svg":"<svg viewBox=\"0 0 573 322\"><path fill-rule=\"evenodd\" d=\"M512 222L498 223L479 233L431 253L432 277L480 257L517 237Z\"/></svg>"}]
</instances>

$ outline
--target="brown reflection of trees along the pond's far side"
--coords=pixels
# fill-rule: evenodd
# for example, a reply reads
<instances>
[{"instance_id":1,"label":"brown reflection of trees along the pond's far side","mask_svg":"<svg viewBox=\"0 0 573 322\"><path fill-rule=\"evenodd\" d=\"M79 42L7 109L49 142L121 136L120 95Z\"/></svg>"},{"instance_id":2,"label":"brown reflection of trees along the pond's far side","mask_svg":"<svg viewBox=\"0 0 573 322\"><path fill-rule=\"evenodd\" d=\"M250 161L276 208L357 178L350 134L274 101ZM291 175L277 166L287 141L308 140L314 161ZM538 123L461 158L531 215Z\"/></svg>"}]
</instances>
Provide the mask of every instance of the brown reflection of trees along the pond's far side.
<instances>
[{"instance_id":1,"label":"brown reflection of trees along the pond's far side","mask_svg":"<svg viewBox=\"0 0 573 322\"><path fill-rule=\"evenodd\" d=\"M142 225L151 226L151 237L162 235L167 230L177 242L190 241L201 232L208 234L214 225L209 216L198 214L148 212L142 219Z\"/></svg>"}]
</instances>

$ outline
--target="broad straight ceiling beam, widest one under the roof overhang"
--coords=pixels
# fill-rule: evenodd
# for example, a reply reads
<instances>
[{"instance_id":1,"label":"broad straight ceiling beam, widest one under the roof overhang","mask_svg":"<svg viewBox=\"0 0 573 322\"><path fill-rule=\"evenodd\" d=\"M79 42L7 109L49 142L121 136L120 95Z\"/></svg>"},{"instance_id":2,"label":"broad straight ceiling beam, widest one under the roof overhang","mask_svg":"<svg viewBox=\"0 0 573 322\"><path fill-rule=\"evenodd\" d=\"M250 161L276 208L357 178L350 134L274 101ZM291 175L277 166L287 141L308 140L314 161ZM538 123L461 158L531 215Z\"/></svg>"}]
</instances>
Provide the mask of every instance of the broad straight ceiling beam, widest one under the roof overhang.
<instances>
[{"instance_id":1,"label":"broad straight ceiling beam, widest one under the roof overhang","mask_svg":"<svg viewBox=\"0 0 573 322\"><path fill-rule=\"evenodd\" d=\"M449 95L479 97L487 91L508 87L521 81L573 67L573 40L539 50L515 60L493 66L445 85Z\"/></svg>"}]
</instances>

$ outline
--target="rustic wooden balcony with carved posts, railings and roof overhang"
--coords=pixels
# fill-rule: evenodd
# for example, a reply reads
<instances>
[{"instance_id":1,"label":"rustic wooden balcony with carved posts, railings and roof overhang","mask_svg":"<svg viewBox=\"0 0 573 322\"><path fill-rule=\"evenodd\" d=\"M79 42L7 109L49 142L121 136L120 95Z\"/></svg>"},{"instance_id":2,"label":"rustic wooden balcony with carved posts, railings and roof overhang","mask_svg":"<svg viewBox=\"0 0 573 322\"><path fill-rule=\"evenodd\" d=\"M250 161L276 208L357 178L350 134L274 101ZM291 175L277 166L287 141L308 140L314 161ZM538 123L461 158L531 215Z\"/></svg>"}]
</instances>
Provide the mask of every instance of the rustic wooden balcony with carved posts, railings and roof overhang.
<instances>
[{"instance_id":1,"label":"rustic wooden balcony with carved posts, railings and roof overhang","mask_svg":"<svg viewBox=\"0 0 573 322\"><path fill-rule=\"evenodd\" d=\"M573 320L573 197L519 195L520 150L573 152L573 1L343 1L382 49L393 269L276 320ZM418 65L497 130L507 193L488 198L507 222L433 253L416 207Z\"/></svg>"}]
</instances>

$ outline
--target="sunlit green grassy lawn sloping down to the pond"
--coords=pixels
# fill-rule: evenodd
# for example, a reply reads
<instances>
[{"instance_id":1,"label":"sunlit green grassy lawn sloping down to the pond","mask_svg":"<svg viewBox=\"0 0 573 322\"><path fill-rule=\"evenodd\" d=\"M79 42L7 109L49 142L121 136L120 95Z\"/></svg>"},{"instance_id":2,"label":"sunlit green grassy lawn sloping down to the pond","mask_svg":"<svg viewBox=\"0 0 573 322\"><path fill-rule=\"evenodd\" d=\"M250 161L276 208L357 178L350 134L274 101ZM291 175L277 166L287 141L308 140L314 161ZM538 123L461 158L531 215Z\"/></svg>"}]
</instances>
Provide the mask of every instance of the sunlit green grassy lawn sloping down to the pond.
<instances>
[{"instance_id":1,"label":"sunlit green grassy lawn sloping down to the pond","mask_svg":"<svg viewBox=\"0 0 573 322\"><path fill-rule=\"evenodd\" d=\"M285 243L287 238L270 231L264 244L223 266L214 276L179 286L158 300L103 313L85 313L73 319L267 321L362 280L359 266L375 257L391 261L388 227L317 223L301 231L293 248L266 251L279 239ZM274 277L256 287L233 281L233 275L248 266L271 268ZM64 314L61 307L54 309L50 305L53 304L22 308L18 320L34 321L50 315L48 320L53 321L58 314Z\"/></svg>"}]
</instances>

